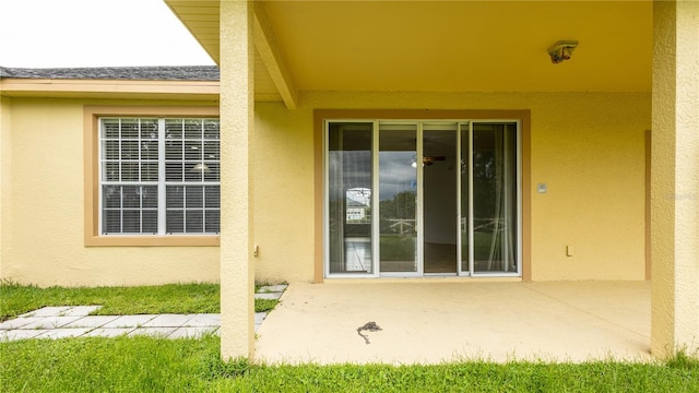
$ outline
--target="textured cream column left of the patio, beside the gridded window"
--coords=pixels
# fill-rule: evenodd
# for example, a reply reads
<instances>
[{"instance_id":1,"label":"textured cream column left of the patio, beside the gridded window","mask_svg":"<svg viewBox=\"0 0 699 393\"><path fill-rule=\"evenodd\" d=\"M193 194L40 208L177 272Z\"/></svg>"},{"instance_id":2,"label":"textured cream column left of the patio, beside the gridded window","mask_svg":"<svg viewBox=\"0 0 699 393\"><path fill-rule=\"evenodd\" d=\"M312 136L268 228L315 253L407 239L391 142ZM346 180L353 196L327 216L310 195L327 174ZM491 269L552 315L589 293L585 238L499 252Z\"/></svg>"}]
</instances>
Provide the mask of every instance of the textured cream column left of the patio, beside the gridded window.
<instances>
[{"instance_id":1,"label":"textured cream column left of the patio, beside the gridded window","mask_svg":"<svg viewBox=\"0 0 699 393\"><path fill-rule=\"evenodd\" d=\"M253 130L252 2L220 2L221 356L252 358L254 266L250 164Z\"/></svg>"}]
</instances>

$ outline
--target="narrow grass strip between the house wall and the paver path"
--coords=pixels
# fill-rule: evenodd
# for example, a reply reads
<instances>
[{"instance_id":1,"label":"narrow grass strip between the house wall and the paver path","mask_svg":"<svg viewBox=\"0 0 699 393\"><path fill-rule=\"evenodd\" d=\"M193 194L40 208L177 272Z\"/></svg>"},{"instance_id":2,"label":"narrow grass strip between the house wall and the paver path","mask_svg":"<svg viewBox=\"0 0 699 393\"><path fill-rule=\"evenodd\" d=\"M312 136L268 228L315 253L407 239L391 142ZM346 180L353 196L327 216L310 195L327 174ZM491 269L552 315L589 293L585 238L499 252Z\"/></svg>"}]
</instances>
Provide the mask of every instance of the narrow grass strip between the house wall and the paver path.
<instances>
[{"instance_id":1,"label":"narrow grass strip between the house wall and the paver path","mask_svg":"<svg viewBox=\"0 0 699 393\"><path fill-rule=\"evenodd\" d=\"M279 300L256 299L257 312ZM0 284L0 322L47 306L103 306L98 315L144 313L218 313L218 284L168 284L133 287L48 287Z\"/></svg>"}]
</instances>

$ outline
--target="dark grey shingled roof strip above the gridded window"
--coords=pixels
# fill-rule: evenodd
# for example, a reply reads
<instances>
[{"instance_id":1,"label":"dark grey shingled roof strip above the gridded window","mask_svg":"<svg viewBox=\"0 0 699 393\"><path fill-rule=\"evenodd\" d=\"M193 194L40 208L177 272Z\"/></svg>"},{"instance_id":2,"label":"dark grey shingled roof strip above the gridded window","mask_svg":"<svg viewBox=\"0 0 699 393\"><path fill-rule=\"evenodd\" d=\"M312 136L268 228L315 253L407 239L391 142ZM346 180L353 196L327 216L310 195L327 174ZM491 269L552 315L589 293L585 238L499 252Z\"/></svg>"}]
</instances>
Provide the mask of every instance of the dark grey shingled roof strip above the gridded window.
<instances>
[{"instance_id":1,"label":"dark grey shingled roof strip above the gridded window","mask_svg":"<svg viewBox=\"0 0 699 393\"><path fill-rule=\"evenodd\" d=\"M27 69L0 67L0 79L218 81L216 66Z\"/></svg>"}]
</instances>

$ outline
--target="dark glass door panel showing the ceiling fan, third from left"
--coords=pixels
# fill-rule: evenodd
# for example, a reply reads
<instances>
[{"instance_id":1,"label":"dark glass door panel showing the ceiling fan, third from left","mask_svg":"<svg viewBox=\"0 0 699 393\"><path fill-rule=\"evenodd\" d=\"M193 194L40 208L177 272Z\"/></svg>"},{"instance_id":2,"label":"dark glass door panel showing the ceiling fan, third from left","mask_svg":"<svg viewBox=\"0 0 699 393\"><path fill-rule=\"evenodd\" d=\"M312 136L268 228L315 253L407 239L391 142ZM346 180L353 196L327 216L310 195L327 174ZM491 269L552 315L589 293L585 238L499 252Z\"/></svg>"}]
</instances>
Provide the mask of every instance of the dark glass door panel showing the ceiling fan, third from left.
<instances>
[{"instance_id":1,"label":"dark glass door panel showing the ceiling fan, third from left","mask_svg":"<svg viewBox=\"0 0 699 393\"><path fill-rule=\"evenodd\" d=\"M457 123L423 127L424 272L457 273Z\"/></svg>"}]
</instances>

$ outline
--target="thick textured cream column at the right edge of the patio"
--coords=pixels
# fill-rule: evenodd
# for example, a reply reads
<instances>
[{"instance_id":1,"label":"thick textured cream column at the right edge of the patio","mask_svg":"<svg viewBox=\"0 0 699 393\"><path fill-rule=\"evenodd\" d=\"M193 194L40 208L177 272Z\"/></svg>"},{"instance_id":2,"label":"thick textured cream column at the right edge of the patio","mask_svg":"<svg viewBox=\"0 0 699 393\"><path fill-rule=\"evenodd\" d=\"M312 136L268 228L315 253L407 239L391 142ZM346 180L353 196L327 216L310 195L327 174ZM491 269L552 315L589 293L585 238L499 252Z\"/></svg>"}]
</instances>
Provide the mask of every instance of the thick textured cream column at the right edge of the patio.
<instances>
[{"instance_id":1,"label":"thick textured cream column at the right edge of the patio","mask_svg":"<svg viewBox=\"0 0 699 393\"><path fill-rule=\"evenodd\" d=\"M699 348L699 2L653 4L651 352Z\"/></svg>"}]
</instances>

